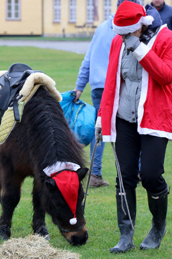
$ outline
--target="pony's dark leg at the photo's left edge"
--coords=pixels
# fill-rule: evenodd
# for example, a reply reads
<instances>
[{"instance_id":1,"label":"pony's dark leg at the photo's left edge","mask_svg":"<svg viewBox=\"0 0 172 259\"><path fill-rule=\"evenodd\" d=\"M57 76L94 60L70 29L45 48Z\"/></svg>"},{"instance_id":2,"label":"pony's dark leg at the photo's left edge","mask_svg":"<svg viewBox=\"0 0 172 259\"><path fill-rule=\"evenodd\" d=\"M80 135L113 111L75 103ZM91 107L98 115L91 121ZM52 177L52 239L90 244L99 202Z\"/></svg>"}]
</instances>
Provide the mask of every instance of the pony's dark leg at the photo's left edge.
<instances>
[{"instance_id":1,"label":"pony's dark leg at the photo's left edge","mask_svg":"<svg viewBox=\"0 0 172 259\"><path fill-rule=\"evenodd\" d=\"M0 218L0 239L5 240L9 239L11 235L11 223L12 216L15 207L20 200L20 185L15 185L13 179L11 183L8 182L3 186L1 204L2 204L2 214Z\"/></svg>"}]
</instances>

